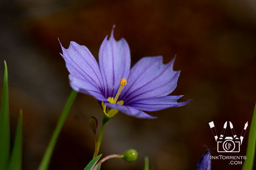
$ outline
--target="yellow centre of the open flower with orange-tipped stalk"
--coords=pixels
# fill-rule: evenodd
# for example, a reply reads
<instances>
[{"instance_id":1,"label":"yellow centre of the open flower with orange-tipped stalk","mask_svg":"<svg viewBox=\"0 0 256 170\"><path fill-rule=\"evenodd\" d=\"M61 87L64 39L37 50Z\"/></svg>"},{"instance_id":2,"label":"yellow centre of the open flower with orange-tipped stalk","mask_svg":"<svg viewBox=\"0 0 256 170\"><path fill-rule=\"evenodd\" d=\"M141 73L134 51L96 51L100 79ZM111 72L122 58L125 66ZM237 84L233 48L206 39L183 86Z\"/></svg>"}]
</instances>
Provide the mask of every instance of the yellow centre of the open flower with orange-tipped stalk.
<instances>
[{"instance_id":1,"label":"yellow centre of the open flower with orange-tipped stalk","mask_svg":"<svg viewBox=\"0 0 256 170\"><path fill-rule=\"evenodd\" d=\"M123 100L120 100L117 102L118 100L118 97L120 96L121 92L122 92L122 89L123 87L127 84L125 78L122 78L122 80L120 81L120 86L118 88L118 91L116 93L116 96L115 98L113 97L109 97L107 98L108 102L110 103L114 103L114 104L120 104L120 105L123 105L124 104L124 101ZM104 102L101 103L102 107L103 107L103 111L104 113L108 116L108 117L113 117L114 115L118 114L118 110L117 109L107 109L106 106L104 105Z\"/></svg>"}]
</instances>

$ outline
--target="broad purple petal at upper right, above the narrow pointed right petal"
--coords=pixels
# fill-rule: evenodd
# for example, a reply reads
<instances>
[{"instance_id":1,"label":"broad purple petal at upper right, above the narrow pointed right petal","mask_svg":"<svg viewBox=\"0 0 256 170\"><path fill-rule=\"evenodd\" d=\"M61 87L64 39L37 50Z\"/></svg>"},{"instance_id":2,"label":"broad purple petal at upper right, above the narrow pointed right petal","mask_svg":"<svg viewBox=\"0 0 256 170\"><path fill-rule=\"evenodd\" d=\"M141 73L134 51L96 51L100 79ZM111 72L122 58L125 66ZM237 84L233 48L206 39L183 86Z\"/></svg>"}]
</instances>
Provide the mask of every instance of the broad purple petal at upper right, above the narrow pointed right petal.
<instances>
[{"instance_id":1,"label":"broad purple petal at upper right, above the narrow pointed right petal","mask_svg":"<svg viewBox=\"0 0 256 170\"><path fill-rule=\"evenodd\" d=\"M120 100L127 105L138 99L170 94L176 88L180 74L172 69L174 59L168 64L162 63L162 56L140 59L130 70Z\"/></svg>"}]
</instances>

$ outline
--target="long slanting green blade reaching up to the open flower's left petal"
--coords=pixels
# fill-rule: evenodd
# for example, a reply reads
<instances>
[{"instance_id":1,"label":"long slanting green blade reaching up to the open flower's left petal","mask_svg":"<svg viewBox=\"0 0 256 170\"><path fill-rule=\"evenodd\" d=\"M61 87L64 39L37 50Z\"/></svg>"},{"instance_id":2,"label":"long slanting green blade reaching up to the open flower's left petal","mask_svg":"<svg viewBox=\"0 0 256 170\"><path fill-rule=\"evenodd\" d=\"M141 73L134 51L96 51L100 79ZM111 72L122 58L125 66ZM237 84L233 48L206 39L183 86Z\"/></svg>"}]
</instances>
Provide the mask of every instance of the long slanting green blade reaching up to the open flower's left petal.
<instances>
[{"instance_id":1,"label":"long slanting green blade reaching up to the open flower's left petal","mask_svg":"<svg viewBox=\"0 0 256 170\"><path fill-rule=\"evenodd\" d=\"M68 112L70 111L70 108L72 107L74 100L76 99L76 95L77 95L77 92L72 90L72 92L68 98L68 101L66 102L66 105L62 111L62 114L60 115L60 119L58 120L57 126L54 130L54 133L52 134L52 138L51 138L51 140L48 144L48 147L44 153L44 156L42 158L42 161L40 163L38 170L47 170L48 169L48 165L50 163L50 158L52 156L52 152L55 147L56 141L57 141L60 131L63 127L63 124L66 120Z\"/></svg>"}]
</instances>

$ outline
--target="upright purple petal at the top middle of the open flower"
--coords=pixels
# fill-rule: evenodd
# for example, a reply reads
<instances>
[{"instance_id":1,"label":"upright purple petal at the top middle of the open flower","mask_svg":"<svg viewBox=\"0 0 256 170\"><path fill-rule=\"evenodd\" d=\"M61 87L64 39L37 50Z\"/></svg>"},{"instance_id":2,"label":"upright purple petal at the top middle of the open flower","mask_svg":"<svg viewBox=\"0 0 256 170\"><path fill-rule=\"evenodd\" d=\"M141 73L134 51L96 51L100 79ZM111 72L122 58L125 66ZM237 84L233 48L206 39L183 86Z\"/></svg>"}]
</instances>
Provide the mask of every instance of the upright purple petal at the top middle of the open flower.
<instances>
[{"instance_id":1,"label":"upright purple petal at the top middle of the open flower","mask_svg":"<svg viewBox=\"0 0 256 170\"><path fill-rule=\"evenodd\" d=\"M130 48L125 39L114 39L114 27L110 39L102 42L99 51L99 64L104 81L105 98L114 97L122 78L128 78L130 72Z\"/></svg>"}]
</instances>

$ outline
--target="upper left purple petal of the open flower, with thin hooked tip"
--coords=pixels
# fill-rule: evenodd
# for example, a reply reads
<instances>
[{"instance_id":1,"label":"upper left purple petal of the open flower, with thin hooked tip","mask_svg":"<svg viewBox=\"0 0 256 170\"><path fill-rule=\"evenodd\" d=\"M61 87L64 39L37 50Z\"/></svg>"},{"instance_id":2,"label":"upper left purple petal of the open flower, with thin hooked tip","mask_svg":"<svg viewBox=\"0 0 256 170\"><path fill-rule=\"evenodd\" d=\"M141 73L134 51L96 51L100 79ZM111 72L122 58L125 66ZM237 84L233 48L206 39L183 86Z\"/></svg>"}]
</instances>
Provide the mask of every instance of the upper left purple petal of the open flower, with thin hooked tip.
<instances>
[{"instance_id":1,"label":"upper left purple petal of the open flower, with thin hooked tip","mask_svg":"<svg viewBox=\"0 0 256 170\"><path fill-rule=\"evenodd\" d=\"M65 49L62 45L61 48L63 55L60 55L64 58L66 67L70 74L74 77L80 78L81 80L90 82L90 84L98 88L98 90L103 93L104 86L102 76L100 74L100 68L88 48L84 45L79 45L74 41L70 42L68 49Z\"/></svg>"}]
</instances>

